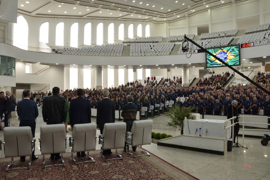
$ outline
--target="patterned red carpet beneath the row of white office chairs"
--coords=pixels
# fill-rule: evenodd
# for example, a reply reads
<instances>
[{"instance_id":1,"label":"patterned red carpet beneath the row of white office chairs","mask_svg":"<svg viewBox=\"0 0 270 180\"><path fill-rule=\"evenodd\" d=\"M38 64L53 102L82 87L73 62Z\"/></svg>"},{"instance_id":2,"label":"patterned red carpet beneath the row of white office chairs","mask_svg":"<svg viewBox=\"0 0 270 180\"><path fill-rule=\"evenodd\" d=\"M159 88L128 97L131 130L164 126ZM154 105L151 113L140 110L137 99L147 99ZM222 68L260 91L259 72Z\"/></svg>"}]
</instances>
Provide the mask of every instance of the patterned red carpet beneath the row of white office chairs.
<instances>
[{"instance_id":1,"label":"patterned red carpet beneath the row of white office chairs","mask_svg":"<svg viewBox=\"0 0 270 180\"><path fill-rule=\"evenodd\" d=\"M120 151L120 149L119 149ZM139 148L137 149L137 154ZM75 153L76 155L76 153ZM65 167L50 166L45 169L42 168L42 156L32 162L30 170L15 169L5 172L5 168L10 163L10 158L0 159L0 171L2 179L16 179L16 180L61 180L61 179L89 179L89 180L194 180L193 176L184 171L174 167L166 161L151 154L151 156L141 156L132 158L126 153L122 153L124 160L110 160L104 163L99 151L91 151L90 156L95 159L95 163L81 163L74 165L70 158L70 153L64 153ZM60 164L60 161L51 161L49 155L46 155L46 165ZM115 152L109 158L115 158ZM18 158L14 158L14 163L11 168L27 167L28 157L26 162L22 163ZM82 161L87 158L77 158ZM77 162L79 162L77 161Z\"/></svg>"}]
</instances>

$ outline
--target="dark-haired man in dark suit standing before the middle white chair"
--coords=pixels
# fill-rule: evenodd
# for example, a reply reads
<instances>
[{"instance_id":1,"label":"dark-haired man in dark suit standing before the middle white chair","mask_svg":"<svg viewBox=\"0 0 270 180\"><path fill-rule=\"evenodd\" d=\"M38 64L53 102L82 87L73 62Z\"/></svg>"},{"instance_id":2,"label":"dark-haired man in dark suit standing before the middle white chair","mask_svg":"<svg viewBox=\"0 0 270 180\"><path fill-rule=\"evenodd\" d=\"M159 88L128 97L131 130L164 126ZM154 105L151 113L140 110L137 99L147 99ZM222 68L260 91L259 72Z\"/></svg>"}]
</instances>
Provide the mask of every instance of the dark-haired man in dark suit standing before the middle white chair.
<instances>
[{"instance_id":1,"label":"dark-haired man in dark suit standing before the middle white chair","mask_svg":"<svg viewBox=\"0 0 270 180\"><path fill-rule=\"evenodd\" d=\"M78 98L70 101L69 122L70 125L91 123L91 107L89 100L84 99L82 89L77 90ZM78 157L85 156L85 152L77 152Z\"/></svg>"}]
</instances>

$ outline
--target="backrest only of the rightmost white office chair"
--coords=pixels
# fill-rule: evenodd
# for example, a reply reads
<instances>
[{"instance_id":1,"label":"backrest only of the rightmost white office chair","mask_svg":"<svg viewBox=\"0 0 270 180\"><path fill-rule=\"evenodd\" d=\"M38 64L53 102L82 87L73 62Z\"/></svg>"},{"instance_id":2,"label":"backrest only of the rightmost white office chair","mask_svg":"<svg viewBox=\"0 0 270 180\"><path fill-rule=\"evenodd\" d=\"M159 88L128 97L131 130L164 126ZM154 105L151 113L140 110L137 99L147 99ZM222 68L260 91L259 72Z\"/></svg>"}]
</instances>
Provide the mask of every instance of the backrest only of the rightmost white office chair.
<instances>
[{"instance_id":1,"label":"backrest only of the rightmost white office chair","mask_svg":"<svg viewBox=\"0 0 270 180\"><path fill-rule=\"evenodd\" d=\"M134 121L131 128L133 134L131 146L151 144L152 126L152 119Z\"/></svg>"}]
</instances>

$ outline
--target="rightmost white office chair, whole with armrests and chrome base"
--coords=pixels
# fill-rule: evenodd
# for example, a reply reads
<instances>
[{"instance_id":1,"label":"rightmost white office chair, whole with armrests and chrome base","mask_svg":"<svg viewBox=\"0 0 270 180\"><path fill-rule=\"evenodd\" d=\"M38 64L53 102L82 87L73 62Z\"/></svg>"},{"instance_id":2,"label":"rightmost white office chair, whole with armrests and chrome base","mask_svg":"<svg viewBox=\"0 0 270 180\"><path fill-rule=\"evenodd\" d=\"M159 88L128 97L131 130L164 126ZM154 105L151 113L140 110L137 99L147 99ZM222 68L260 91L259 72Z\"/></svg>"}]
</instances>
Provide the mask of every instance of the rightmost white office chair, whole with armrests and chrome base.
<instances>
[{"instance_id":1,"label":"rightmost white office chair, whole with armrests and chrome base","mask_svg":"<svg viewBox=\"0 0 270 180\"><path fill-rule=\"evenodd\" d=\"M147 120L140 120L140 121L134 121L131 132L126 133L125 142L127 153L132 155L133 158L136 158L137 156L145 156L150 154L146 151L143 151L142 145L151 144L151 131L153 126L153 120L147 119ZM137 155L129 152L129 146L140 146L140 149L142 152L146 153L144 155Z\"/></svg>"}]
</instances>

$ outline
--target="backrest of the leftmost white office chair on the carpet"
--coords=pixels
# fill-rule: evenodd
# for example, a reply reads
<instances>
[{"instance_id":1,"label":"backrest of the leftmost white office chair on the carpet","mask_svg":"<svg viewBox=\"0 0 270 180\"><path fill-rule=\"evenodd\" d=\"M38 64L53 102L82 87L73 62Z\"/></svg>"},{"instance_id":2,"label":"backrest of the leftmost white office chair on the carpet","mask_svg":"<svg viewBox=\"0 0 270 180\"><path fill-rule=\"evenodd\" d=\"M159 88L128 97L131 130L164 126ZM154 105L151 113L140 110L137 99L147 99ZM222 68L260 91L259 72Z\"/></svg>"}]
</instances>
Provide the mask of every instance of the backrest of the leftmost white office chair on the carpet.
<instances>
[{"instance_id":1,"label":"backrest of the leftmost white office chair on the carpet","mask_svg":"<svg viewBox=\"0 0 270 180\"><path fill-rule=\"evenodd\" d=\"M32 155L32 131L29 126L4 128L5 158Z\"/></svg>"}]
</instances>

